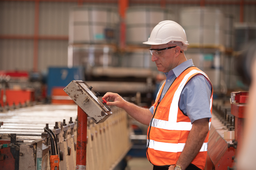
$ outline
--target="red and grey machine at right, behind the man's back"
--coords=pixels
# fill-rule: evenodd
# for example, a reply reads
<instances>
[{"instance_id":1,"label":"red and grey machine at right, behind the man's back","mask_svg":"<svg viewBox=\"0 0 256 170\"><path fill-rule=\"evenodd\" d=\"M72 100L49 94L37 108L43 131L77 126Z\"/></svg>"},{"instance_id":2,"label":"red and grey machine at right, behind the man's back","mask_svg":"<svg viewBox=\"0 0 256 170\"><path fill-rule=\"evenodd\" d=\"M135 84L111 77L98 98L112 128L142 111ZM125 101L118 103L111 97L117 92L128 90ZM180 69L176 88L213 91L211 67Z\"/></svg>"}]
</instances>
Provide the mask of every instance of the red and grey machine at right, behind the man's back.
<instances>
[{"instance_id":1,"label":"red and grey machine at right, behind the man's back","mask_svg":"<svg viewBox=\"0 0 256 170\"><path fill-rule=\"evenodd\" d=\"M230 103L215 102L211 118L205 170L235 170L242 146L248 92L232 92Z\"/></svg>"}]
</instances>

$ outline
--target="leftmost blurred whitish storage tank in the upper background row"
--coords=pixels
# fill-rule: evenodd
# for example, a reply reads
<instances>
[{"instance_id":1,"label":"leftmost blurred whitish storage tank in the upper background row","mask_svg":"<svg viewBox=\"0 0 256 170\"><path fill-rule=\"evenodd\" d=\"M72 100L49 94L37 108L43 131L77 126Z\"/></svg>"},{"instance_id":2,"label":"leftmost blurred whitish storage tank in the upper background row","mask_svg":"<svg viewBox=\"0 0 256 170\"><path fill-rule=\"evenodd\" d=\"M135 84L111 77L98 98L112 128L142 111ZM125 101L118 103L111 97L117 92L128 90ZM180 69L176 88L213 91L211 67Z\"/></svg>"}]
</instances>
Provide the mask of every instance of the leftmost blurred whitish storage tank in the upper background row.
<instances>
[{"instance_id":1,"label":"leftmost blurred whitish storage tank in the upper background row","mask_svg":"<svg viewBox=\"0 0 256 170\"><path fill-rule=\"evenodd\" d=\"M115 7L73 7L69 16L69 44L115 44L119 20Z\"/></svg>"}]
</instances>

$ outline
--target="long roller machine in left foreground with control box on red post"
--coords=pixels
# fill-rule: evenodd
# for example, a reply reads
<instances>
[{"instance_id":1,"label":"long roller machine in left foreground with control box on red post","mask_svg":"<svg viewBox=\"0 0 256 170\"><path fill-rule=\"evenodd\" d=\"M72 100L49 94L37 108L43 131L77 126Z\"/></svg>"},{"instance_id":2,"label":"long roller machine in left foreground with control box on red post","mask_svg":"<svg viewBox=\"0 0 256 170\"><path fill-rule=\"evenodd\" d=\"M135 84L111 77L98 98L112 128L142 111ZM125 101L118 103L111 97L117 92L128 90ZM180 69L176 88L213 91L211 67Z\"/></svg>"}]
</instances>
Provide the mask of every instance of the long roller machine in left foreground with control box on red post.
<instances>
[{"instance_id":1,"label":"long roller machine in left foreground with control box on red post","mask_svg":"<svg viewBox=\"0 0 256 170\"><path fill-rule=\"evenodd\" d=\"M98 101L97 93L91 90L86 93L89 89L84 82L73 81L70 85L75 88L75 83L80 91L72 92L79 96L83 92L81 97L84 97L83 101L77 98L78 107L74 104L35 105L1 113L1 170L112 170L124 158L130 149L127 114ZM85 108L80 108L83 103L102 114L101 119L96 119L86 108L88 115L94 117L94 120L87 119L81 109ZM104 108L105 112L98 112L96 108ZM60 118L63 121L59 121ZM67 119L70 121L66 122Z\"/></svg>"}]
</instances>

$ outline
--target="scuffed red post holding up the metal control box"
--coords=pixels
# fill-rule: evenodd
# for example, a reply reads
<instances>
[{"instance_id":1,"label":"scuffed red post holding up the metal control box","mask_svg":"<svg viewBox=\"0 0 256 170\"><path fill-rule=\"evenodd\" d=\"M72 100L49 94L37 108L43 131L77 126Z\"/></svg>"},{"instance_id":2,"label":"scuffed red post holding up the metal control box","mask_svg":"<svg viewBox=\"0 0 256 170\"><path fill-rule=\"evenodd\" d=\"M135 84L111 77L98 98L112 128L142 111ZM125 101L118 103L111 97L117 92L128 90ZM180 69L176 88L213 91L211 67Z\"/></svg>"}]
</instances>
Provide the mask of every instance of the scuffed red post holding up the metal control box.
<instances>
[{"instance_id":1,"label":"scuffed red post holding up the metal control box","mask_svg":"<svg viewBox=\"0 0 256 170\"><path fill-rule=\"evenodd\" d=\"M86 169L87 114L77 106L76 170Z\"/></svg>"}]
</instances>

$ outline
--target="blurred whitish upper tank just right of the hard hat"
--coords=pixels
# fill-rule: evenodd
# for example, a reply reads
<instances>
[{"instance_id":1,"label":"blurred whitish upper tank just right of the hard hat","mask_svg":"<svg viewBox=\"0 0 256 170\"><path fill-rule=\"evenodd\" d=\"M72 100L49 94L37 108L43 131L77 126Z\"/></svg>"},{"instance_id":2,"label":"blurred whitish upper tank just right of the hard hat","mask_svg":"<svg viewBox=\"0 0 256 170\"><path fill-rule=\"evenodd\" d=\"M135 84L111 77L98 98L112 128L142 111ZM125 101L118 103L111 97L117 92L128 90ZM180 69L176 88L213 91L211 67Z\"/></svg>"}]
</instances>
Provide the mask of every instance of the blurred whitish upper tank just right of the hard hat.
<instances>
[{"instance_id":1,"label":"blurred whitish upper tank just right of the hard hat","mask_svg":"<svg viewBox=\"0 0 256 170\"><path fill-rule=\"evenodd\" d=\"M190 47L219 47L225 45L223 13L217 8L185 7L180 12Z\"/></svg>"}]
</instances>

